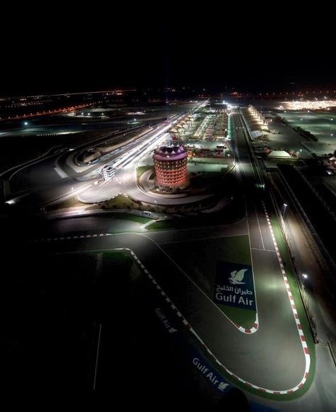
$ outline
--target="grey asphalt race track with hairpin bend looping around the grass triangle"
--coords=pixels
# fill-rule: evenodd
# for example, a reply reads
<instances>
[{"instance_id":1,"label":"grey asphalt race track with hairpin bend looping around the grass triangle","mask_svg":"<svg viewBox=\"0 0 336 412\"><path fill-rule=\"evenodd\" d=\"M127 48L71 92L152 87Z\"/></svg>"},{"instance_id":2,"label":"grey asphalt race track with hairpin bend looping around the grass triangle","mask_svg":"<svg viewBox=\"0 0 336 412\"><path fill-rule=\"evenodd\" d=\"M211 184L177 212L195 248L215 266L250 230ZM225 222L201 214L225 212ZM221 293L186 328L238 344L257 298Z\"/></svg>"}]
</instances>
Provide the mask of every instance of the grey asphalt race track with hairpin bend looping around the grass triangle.
<instances>
[{"instance_id":1,"label":"grey asphalt race track with hairpin bend looping around the grass triangle","mask_svg":"<svg viewBox=\"0 0 336 412\"><path fill-rule=\"evenodd\" d=\"M89 252L116 248L133 250L201 340L225 367L251 384L271 391L285 391L301 382L305 374L306 360L262 202L254 196L251 189L256 176L242 133L240 130L237 132L236 142L241 160L240 175L247 193L247 217L243 221L215 228L164 231L148 236L124 233L65 239L43 243L41 247L52 252ZM89 231L108 233L106 219L76 218L53 223L54 235L57 235L57 229L60 230L60 235L82 235L85 221L88 229L92 228ZM159 246L159 243L246 233L250 234L259 316L257 332L249 335L240 332Z\"/></svg>"}]
</instances>

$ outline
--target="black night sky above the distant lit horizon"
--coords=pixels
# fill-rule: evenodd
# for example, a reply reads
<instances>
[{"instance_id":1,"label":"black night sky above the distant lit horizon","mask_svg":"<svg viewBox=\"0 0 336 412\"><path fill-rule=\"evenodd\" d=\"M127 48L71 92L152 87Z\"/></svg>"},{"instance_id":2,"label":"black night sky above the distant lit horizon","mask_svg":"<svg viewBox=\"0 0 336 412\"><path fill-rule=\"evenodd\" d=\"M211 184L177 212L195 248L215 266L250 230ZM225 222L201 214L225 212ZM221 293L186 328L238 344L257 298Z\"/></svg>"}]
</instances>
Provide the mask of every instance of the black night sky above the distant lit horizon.
<instances>
[{"instance_id":1,"label":"black night sky above the distant lit horizon","mask_svg":"<svg viewBox=\"0 0 336 412\"><path fill-rule=\"evenodd\" d=\"M8 13L1 27L0 95L180 86L276 91L335 84L325 8L307 8L303 16L282 4L281 13L273 4L262 13L242 14L225 13L224 5L220 12L205 4L180 11L161 3L150 16L141 5L99 7L39 10L44 17L30 8L20 16Z\"/></svg>"}]
</instances>

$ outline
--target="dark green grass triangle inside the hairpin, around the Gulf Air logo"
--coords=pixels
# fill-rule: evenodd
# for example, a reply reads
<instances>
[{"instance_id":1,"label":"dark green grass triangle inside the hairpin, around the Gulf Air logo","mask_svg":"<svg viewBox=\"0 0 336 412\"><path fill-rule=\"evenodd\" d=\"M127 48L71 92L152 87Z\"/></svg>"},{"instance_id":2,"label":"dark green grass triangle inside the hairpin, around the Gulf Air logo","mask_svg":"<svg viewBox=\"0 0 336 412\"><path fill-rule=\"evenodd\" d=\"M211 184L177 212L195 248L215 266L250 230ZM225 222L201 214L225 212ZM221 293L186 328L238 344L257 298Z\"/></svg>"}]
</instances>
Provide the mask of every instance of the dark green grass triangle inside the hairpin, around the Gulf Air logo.
<instances>
[{"instance_id":1,"label":"dark green grass triangle inside the hairpin, around the Gulf Air logo","mask_svg":"<svg viewBox=\"0 0 336 412\"><path fill-rule=\"evenodd\" d=\"M212 301L214 301L218 261L251 265L250 243L247 235L174 243L164 245L164 250L191 279L194 279L194 282ZM234 323L243 328L252 328L255 322L255 311L222 304L216 305Z\"/></svg>"}]
</instances>

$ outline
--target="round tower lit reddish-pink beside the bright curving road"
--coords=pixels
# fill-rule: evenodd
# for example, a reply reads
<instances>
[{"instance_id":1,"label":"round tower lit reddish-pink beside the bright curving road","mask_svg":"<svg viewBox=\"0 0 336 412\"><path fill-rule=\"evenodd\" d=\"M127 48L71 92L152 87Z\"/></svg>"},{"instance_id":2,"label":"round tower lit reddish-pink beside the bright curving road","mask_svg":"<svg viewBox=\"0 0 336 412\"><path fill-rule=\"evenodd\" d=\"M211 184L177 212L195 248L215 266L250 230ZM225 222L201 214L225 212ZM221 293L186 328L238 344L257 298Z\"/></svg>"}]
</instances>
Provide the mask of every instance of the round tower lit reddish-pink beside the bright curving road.
<instances>
[{"instance_id":1,"label":"round tower lit reddish-pink beside the bright curving road","mask_svg":"<svg viewBox=\"0 0 336 412\"><path fill-rule=\"evenodd\" d=\"M159 186L179 187L187 182L187 154L179 145L161 146L153 155L156 182Z\"/></svg>"}]
</instances>

